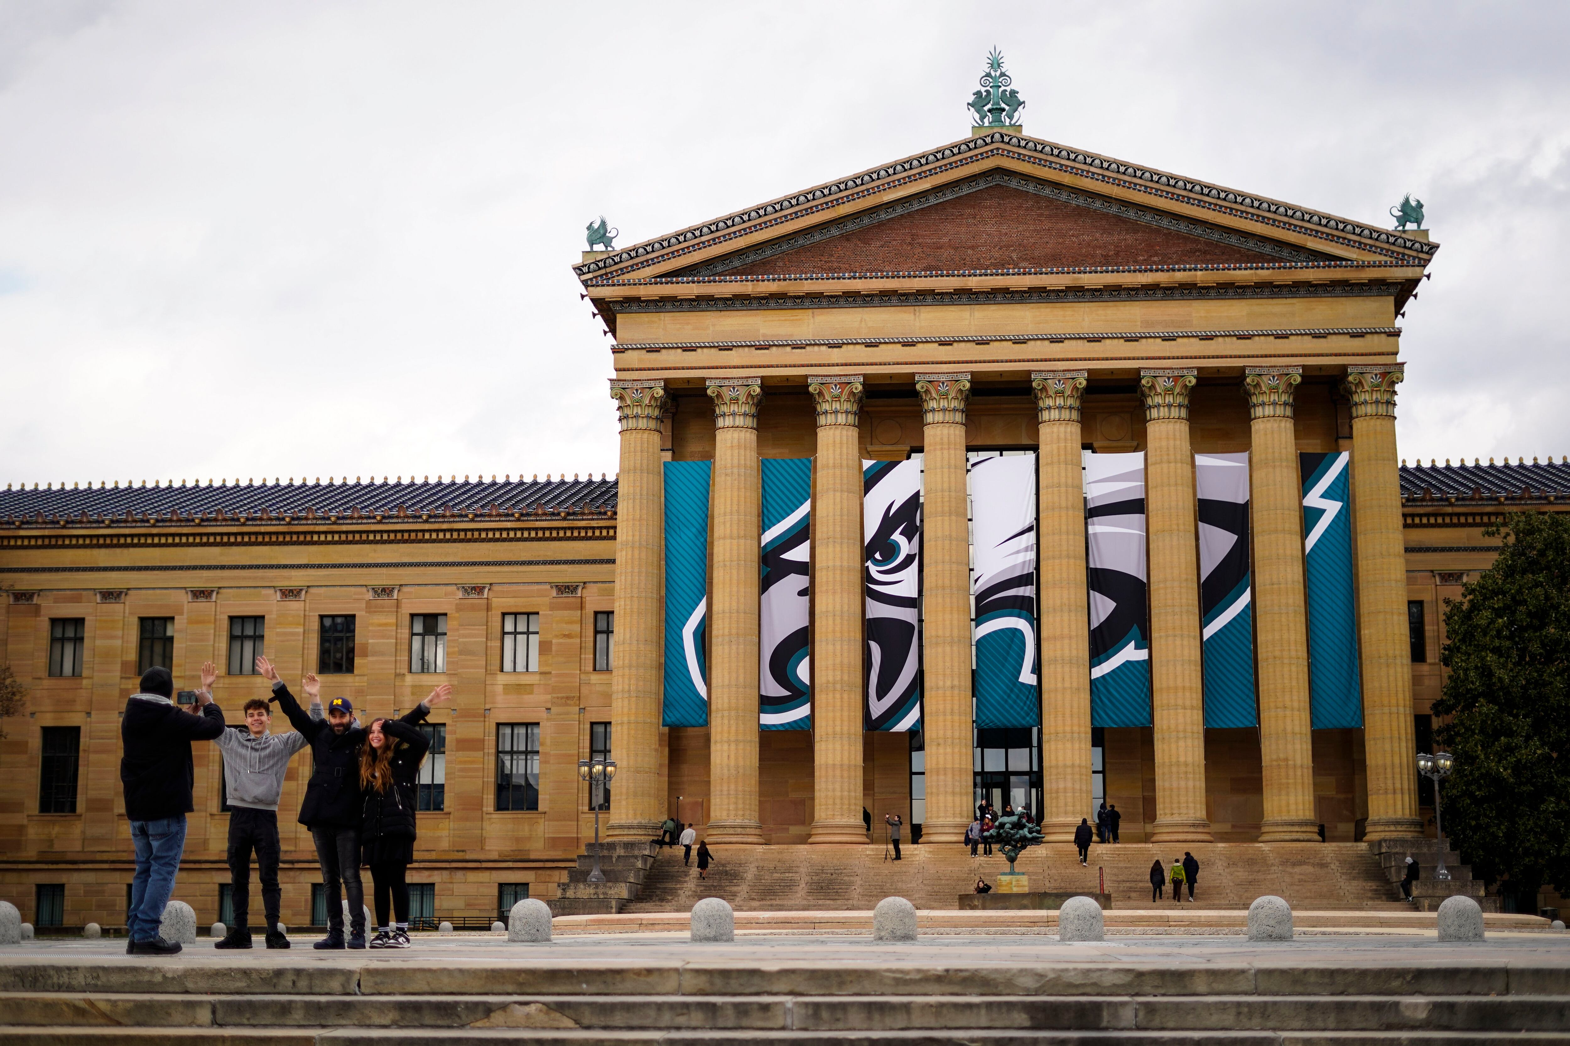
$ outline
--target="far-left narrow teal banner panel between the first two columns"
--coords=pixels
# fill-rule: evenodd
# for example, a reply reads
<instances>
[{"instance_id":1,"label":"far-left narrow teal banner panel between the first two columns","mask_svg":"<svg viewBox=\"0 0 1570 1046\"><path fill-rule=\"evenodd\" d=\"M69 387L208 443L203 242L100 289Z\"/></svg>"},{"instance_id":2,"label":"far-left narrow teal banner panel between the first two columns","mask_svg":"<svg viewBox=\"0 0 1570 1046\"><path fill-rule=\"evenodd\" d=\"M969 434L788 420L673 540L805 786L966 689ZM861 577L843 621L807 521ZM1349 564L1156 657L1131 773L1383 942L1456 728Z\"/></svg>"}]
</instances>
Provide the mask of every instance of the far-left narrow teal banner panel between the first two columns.
<instances>
[{"instance_id":1,"label":"far-left narrow teal banner panel between the first two columns","mask_svg":"<svg viewBox=\"0 0 1570 1046\"><path fill-rule=\"evenodd\" d=\"M666 461L666 699L661 726L708 726L708 461Z\"/></svg>"}]
</instances>

